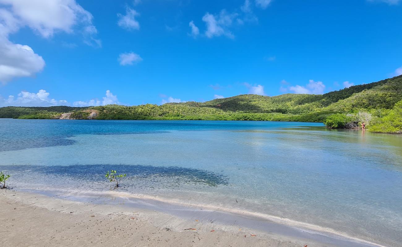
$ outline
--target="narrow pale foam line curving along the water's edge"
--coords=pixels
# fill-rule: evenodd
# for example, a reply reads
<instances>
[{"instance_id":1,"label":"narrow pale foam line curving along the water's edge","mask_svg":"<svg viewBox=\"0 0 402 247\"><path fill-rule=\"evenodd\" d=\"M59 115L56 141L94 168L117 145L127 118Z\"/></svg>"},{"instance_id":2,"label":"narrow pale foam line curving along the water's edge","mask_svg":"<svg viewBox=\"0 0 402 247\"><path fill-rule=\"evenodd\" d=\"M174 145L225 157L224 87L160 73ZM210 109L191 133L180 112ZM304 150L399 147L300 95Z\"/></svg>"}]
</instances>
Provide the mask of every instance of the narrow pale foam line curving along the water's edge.
<instances>
[{"instance_id":1,"label":"narrow pale foam line curving along the water's edge","mask_svg":"<svg viewBox=\"0 0 402 247\"><path fill-rule=\"evenodd\" d=\"M142 202L150 203L154 206L156 206L155 203L151 203L149 201L154 201L154 202L161 202L161 203L166 203L170 205L176 205L176 206L183 206L183 207L189 207L191 210L195 211L200 211L199 209L196 208L202 208L202 211L209 211L209 212L223 212L223 213L228 213L228 214L235 214L237 216L242 216L242 217L248 217L251 219L255 220L267 220L271 223L276 223L280 225L286 225L289 227L293 227L295 229L298 229L300 231L306 231L309 233L313 234L320 234L324 235L326 237L333 237L335 239L340 239L340 240L348 240L348 241L353 241L355 243L361 243L365 245L371 245L371 246L377 246L377 247L386 247L384 245L380 245L377 243L373 243L364 239L359 239L357 237L353 237L351 235L348 235L346 233L342 233L340 231L336 231L331 228L326 228L326 227L320 227L318 225L310 224L310 223L305 223L305 222L300 222L297 220L292 220L289 218L282 218L279 216L275 215L269 215L269 214L263 214L260 212L255 212L255 211L249 211L249 210L242 210L242 209L234 209L234 208L229 208L225 206L215 206L211 204L202 204L202 203L191 203L191 202L184 202L183 200L177 200L174 198L165 198L163 196L152 196L152 195L147 195L147 194L132 194L129 192L118 192L118 191L92 191L92 190L65 190L65 189L57 189L57 190L36 190L33 189L34 192L44 192L45 195L53 194L53 197L57 198L64 198L68 199L70 196L74 197L111 197L111 198L127 198L127 199L137 199L137 200L142 200ZM58 194L61 193L61 194ZM41 193L42 194L42 193ZM76 198L78 200L78 198ZM74 200L74 199L73 199ZM80 200L78 200L80 201ZM148 202L147 202L148 201ZM159 206L160 208L160 206ZM180 209L179 209L180 210ZM184 210L184 209L182 209ZM330 234L329 236L326 234Z\"/></svg>"}]
</instances>

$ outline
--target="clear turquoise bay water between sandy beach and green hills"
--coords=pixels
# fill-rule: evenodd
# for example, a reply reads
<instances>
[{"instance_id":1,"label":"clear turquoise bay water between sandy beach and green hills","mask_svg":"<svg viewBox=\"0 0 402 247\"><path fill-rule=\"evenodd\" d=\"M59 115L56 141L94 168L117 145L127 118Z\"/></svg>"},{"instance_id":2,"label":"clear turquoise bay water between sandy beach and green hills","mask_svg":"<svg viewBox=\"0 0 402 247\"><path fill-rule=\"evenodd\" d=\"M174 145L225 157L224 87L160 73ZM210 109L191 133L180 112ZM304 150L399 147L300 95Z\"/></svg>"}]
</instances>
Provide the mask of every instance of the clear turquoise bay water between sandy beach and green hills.
<instances>
[{"instance_id":1,"label":"clear turquoise bay water between sandy beach and green hills","mask_svg":"<svg viewBox=\"0 0 402 247\"><path fill-rule=\"evenodd\" d=\"M16 189L119 192L402 245L402 136L320 123L0 119ZM237 202L236 202L237 201Z\"/></svg>"}]
</instances>

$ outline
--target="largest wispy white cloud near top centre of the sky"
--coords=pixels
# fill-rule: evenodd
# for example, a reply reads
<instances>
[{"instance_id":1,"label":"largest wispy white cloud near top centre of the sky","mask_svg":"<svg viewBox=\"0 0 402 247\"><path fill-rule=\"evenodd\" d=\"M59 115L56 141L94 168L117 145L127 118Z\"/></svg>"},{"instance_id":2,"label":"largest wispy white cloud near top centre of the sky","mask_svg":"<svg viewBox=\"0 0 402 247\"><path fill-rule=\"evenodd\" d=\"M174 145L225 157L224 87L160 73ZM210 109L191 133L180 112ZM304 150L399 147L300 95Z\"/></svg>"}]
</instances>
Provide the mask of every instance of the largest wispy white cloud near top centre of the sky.
<instances>
[{"instance_id":1,"label":"largest wispy white cloud near top centre of the sky","mask_svg":"<svg viewBox=\"0 0 402 247\"><path fill-rule=\"evenodd\" d=\"M232 25L233 19L238 16L237 13L228 14L226 10L222 10L219 15L209 14L208 12L203 16L202 20L205 22L207 30L205 31L205 36L212 38L214 36L222 36L233 39L234 35L228 27Z\"/></svg>"}]
</instances>

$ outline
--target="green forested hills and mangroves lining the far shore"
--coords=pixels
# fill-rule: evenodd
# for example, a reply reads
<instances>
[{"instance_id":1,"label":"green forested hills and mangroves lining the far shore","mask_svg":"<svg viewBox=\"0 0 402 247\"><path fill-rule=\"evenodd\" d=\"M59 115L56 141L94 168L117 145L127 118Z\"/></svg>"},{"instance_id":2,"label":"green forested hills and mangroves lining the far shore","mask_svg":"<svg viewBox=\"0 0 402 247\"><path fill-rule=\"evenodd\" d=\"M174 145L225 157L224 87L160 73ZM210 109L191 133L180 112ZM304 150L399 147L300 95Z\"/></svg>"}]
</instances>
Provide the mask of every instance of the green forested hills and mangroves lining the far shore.
<instances>
[{"instance_id":1,"label":"green forested hills and mangroves lining the far shore","mask_svg":"<svg viewBox=\"0 0 402 247\"><path fill-rule=\"evenodd\" d=\"M322 95L283 94L269 97L244 94L207 102L167 103L161 106L9 106L0 108L0 118L57 119L62 113L71 112L70 118L87 119L93 109L97 110L96 119L324 121L331 128L351 128L361 123L359 114L369 113L373 117L372 123L367 125L371 131L394 133L400 131L400 118L394 108L400 100L402 76L396 76ZM347 122L349 118L351 121Z\"/></svg>"}]
</instances>

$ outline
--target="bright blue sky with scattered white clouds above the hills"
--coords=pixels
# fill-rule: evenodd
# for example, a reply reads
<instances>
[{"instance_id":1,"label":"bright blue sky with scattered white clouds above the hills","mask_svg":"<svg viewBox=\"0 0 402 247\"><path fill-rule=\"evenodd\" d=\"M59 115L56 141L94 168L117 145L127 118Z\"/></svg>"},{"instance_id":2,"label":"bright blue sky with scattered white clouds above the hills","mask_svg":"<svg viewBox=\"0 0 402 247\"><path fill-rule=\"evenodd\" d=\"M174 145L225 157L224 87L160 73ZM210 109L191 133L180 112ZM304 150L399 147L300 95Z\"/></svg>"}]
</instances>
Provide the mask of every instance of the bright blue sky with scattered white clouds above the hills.
<instances>
[{"instance_id":1,"label":"bright blue sky with scattered white clouds above the hills","mask_svg":"<svg viewBox=\"0 0 402 247\"><path fill-rule=\"evenodd\" d=\"M0 106L322 94L402 74L402 0L0 0Z\"/></svg>"}]
</instances>

